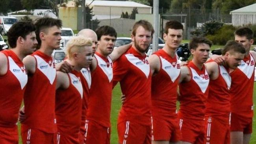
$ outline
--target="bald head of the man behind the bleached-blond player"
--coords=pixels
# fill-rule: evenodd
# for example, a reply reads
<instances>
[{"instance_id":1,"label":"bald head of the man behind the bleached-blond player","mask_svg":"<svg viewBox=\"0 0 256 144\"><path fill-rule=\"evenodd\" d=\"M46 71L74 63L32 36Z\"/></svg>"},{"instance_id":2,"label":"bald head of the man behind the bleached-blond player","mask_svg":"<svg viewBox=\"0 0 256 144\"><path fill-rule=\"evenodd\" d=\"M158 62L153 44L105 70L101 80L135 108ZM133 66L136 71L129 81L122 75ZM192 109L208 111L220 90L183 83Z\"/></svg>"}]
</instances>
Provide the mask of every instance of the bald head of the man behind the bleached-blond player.
<instances>
[{"instance_id":1,"label":"bald head of the man behind the bleached-blond player","mask_svg":"<svg viewBox=\"0 0 256 144\"><path fill-rule=\"evenodd\" d=\"M80 30L77 35L91 39L93 41L93 53L95 53L98 43L96 33L91 29L83 29Z\"/></svg>"}]
</instances>

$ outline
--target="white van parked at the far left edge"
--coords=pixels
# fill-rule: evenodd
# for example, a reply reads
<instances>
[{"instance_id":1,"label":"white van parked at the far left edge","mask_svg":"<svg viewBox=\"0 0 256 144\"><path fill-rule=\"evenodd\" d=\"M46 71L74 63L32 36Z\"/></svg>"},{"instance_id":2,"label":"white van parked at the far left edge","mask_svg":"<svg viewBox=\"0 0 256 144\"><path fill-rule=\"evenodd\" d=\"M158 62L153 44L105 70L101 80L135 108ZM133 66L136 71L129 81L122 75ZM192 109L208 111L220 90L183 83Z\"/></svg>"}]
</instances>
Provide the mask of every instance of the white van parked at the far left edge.
<instances>
[{"instance_id":1,"label":"white van parked at the far left edge","mask_svg":"<svg viewBox=\"0 0 256 144\"><path fill-rule=\"evenodd\" d=\"M5 35L15 22L18 22L18 19L16 17L1 16L0 17L0 33L1 33L1 35Z\"/></svg>"}]
</instances>

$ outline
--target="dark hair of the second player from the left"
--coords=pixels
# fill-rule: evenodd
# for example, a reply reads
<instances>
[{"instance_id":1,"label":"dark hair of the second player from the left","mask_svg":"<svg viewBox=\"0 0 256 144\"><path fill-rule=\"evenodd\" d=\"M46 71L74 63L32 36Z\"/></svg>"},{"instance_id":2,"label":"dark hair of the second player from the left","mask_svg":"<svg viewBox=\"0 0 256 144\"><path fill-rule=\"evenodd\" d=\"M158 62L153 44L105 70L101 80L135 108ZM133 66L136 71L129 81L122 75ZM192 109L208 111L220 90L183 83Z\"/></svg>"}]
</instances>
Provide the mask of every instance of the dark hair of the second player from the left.
<instances>
[{"instance_id":1,"label":"dark hair of the second player from the left","mask_svg":"<svg viewBox=\"0 0 256 144\"><path fill-rule=\"evenodd\" d=\"M39 48L41 46L41 39L40 39L39 33L41 31L45 30L46 28L50 28L53 26L57 26L57 27L61 28L62 22L60 19L43 17L43 18L39 18L35 21L35 26L36 26L35 34L37 36L37 42L38 42L37 48Z\"/></svg>"}]
</instances>

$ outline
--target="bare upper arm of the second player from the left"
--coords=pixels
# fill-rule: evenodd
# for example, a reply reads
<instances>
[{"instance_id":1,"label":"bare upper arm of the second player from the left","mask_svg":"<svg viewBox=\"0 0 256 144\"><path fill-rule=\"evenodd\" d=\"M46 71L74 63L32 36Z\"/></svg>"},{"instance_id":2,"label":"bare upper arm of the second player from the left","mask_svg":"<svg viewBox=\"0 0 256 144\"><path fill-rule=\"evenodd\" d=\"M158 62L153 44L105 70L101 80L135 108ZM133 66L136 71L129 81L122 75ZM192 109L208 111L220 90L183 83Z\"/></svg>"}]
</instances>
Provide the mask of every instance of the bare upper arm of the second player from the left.
<instances>
[{"instance_id":1,"label":"bare upper arm of the second player from the left","mask_svg":"<svg viewBox=\"0 0 256 144\"><path fill-rule=\"evenodd\" d=\"M26 71L28 72L28 76L33 75L35 73L35 57L28 55L23 59L23 63Z\"/></svg>"}]
</instances>

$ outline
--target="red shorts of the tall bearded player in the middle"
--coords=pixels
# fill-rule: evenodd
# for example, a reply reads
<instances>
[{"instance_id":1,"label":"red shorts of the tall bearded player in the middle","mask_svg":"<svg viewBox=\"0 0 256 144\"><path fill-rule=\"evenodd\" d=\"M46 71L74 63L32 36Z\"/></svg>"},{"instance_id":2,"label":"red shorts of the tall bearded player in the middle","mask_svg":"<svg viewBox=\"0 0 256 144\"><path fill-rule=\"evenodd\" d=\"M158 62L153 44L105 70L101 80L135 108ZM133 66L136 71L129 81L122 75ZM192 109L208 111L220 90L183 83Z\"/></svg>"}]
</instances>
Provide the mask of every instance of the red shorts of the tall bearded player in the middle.
<instances>
[{"instance_id":1,"label":"red shorts of the tall bearded player in the middle","mask_svg":"<svg viewBox=\"0 0 256 144\"><path fill-rule=\"evenodd\" d=\"M151 144L152 126L143 126L131 121L117 124L119 144Z\"/></svg>"}]
</instances>

